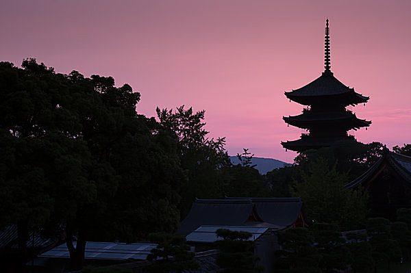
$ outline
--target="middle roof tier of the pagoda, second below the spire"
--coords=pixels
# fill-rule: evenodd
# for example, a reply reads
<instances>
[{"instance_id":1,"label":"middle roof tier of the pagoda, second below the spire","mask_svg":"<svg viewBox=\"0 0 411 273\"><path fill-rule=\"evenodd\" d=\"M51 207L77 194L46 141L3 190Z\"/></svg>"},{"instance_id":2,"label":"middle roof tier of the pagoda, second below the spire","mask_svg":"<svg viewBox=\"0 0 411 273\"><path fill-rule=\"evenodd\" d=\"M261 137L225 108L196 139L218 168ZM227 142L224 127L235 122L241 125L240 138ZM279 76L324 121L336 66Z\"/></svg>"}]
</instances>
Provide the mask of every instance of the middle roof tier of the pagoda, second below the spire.
<instances>
[{"instance_id":1,"label":"middle roof tier of the pagoda, second below the spire","mask_svg":"<svg viewBox=\"0 0 411 273\"><path fill-rule=\"evenodd\" d=\"M346 125L349 129L360 129L360 127L369 127L371 121L361 120L349 111L344 112L311 112L305 111L298 116L283 116L283 120L289 125L310 129L316 126L333 126Z\"/></svg>"}]
</instances>

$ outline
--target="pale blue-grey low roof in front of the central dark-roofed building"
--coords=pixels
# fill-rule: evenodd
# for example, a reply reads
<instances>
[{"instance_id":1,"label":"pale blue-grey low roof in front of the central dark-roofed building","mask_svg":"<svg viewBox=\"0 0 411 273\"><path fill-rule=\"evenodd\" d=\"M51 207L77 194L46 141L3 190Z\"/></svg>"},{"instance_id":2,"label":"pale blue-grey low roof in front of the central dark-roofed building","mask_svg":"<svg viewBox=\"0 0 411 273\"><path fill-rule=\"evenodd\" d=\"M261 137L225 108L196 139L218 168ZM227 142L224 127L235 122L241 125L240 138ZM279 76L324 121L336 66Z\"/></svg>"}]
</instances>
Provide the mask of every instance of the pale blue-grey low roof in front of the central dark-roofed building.
<instances>
[{"instance_id":1,"label":"pale blue-grey low roof in front of the central dark-roofed building","mask_svg":"<svg viewBox=\"0 0 411 273\"><path fill-rule=\"evenodd\" d=\"M192 231L192 233L186 236L187 242L201 242L201 243L212 243L216 242L219 239L223 239L218 237L216 231L218 229L229 229L230 231L247 231L251 233L251 237L249 237L249 241L256 241L258 237L260 237L264 232L269 229L268 227L261 227L261 226L199 226L198 229Z\"/></svg>"}]
</instances>

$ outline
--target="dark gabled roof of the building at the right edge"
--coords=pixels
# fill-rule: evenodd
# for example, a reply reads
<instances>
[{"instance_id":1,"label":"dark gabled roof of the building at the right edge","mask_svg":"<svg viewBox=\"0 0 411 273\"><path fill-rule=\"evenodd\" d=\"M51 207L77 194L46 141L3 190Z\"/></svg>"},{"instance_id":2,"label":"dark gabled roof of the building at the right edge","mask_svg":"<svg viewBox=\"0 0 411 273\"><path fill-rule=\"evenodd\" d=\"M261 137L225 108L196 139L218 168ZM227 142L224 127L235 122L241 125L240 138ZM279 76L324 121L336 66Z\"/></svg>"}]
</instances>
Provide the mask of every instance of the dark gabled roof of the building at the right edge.
<instances>
[{"instance_id":1,"label":"dark gabled roof of the building at the right edge","mask_svg":"<svg viewBox=\"0 0 411 273\"><path fill-rule=\"evenodd\" d=\"M394 170L396 170L397 174L399 174L405 181L411 183L411 157L387 151L377 162L375 162L375 164L373 164L373 166L361 174L360 177L345 185L345 187L351 189L368 181L379 171L384 162L387 162Z\"/></svg>"}]
</instances>

